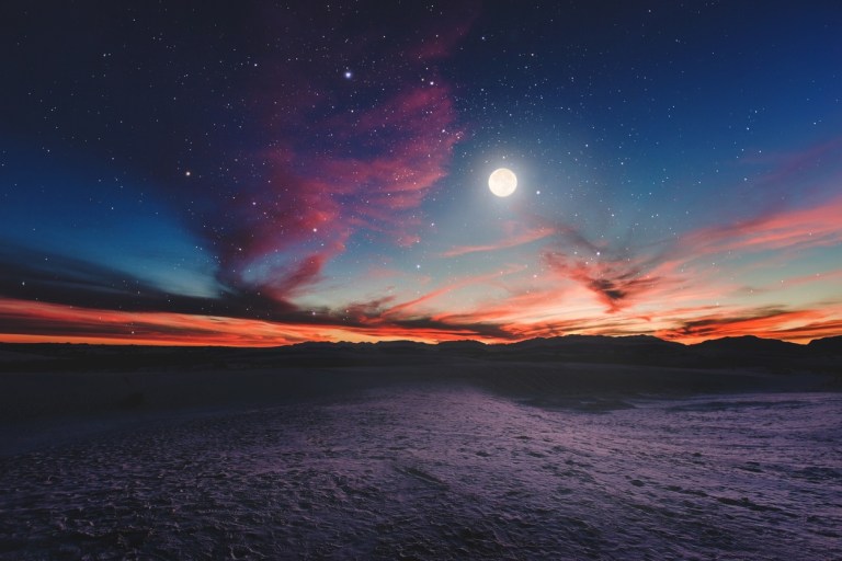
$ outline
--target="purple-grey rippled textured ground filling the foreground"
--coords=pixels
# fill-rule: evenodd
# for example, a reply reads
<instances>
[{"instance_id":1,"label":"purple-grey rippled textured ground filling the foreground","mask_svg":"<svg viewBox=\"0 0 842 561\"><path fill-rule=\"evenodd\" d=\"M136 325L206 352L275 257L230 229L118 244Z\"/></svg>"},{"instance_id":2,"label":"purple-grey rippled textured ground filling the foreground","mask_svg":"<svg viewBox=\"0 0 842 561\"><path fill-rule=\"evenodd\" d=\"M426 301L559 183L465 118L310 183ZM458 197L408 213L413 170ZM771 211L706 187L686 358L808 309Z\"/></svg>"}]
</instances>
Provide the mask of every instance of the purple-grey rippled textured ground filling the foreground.
<instances>
[{"instance_id":1,"label":"purple-grey rippled textured ground filling the foreground","mask_svg":"<svg viewBox=\"0 0 842 561\"><path fill-rule=\"evenodd\" d=\"M838 559L842 396L375 388L0 457L0 559Z\"/></svg>"}]
</instances>

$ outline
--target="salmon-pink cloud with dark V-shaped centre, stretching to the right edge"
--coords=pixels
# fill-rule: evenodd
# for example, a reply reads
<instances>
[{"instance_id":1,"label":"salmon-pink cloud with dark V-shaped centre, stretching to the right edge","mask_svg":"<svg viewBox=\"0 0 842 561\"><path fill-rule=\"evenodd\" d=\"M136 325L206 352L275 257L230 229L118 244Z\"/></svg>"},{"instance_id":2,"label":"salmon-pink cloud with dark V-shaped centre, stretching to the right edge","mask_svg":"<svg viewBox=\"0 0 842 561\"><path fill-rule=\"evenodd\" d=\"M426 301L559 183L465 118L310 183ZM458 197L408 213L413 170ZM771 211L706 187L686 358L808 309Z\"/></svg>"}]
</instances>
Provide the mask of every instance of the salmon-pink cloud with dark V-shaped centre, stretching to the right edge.
<instances>
[{"instance_id":1,"label":"salmon-pink cloud with dark V-shaped centre, stretching to the right edge","mask_svg":"<svg viewBox=\"0 0 842 561\"><path fill-rule=\"evenodd\" d=\"M624 254L627 251L617 255L573 228L559 227L559 240L569 249L546 251L543 257L550 271L590 290L611 313L653 301L718 300L736 294L739 286L727 286L713 277L714 268L699 268L693 263L698 257L837 245L842 243L840 217L842 197L837 197L821 205L770 210L732 224L701 228L665 248L655 247L638 255ZM818 279L810 275L800 282Z\"/></svg>"}]
</instances>

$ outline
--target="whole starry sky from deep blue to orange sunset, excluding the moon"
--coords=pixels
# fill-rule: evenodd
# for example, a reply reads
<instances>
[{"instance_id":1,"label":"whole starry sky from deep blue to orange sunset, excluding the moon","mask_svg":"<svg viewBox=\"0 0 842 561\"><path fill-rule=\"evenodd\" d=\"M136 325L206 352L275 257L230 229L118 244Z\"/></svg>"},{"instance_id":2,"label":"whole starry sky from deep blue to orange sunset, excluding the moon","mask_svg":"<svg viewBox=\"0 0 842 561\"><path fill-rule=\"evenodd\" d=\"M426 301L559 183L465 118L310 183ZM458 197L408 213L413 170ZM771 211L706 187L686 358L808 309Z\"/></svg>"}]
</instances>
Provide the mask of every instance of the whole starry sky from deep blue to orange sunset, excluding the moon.
<instances>
[{"instance_id":1,"label":"whole starry sky from deep blue to orange sunset, excluding the moon","mask_svg":"<svg viewBox=\"0 0 842 561\"><path fill-rule=\"evenodd\" d=\"M838 1L4 1L0 340L840 334L840 37Z\"/></svg>"}]
</instances>

